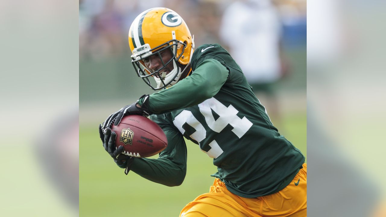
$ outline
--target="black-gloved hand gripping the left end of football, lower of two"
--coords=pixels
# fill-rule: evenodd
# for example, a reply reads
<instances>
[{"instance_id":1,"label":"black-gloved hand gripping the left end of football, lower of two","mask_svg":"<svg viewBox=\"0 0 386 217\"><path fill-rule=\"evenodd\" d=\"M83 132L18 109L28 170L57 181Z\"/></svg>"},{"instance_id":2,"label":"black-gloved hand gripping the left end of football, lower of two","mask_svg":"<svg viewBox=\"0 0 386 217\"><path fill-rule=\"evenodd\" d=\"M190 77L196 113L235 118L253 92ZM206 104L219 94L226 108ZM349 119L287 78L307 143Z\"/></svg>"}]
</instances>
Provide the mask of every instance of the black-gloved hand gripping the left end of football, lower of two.
<instances>
[{"instance_id":1,"label":"black-gloved hand gripping the left end of football, lower of two","mask_svg":"<svg viewBox=\"0 0 386 217\"><path fill-rule=\"evenodd\" d=\"M121 154L124 151L123 146L119 146L117 149L115 147L115 137L117 136L115 132L111 132L110 128L106 129L106 132L102 131L102 124L99 125L99 136L103 142L103 147L108 154L113 158L114 162L120 168L127 168L127 163L131 161L131 157Z\"/></svg>"}]
</instances>

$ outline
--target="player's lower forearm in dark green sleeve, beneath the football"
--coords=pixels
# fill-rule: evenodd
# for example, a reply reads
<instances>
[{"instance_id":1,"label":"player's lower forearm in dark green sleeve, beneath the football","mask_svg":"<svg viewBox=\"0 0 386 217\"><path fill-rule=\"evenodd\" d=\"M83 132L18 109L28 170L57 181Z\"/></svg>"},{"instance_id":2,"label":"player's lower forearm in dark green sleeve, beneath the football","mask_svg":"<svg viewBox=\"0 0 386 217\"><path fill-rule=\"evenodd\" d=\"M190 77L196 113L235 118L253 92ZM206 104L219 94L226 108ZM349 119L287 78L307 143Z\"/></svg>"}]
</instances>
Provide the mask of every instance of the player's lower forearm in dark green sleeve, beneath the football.
<instances>
[{"instance_id":1,"label":"player's lower forearm in dark green sleeve, beneath the football","mask_svg":"<svg viewBox=\"0 0 386 217\"><path fill-rule=\"evenodd\" d=\"M134 159L131 170L147 180L166 186L178 186L185 179L186 167L169 159Z\"/></svg>"}]
</instances>

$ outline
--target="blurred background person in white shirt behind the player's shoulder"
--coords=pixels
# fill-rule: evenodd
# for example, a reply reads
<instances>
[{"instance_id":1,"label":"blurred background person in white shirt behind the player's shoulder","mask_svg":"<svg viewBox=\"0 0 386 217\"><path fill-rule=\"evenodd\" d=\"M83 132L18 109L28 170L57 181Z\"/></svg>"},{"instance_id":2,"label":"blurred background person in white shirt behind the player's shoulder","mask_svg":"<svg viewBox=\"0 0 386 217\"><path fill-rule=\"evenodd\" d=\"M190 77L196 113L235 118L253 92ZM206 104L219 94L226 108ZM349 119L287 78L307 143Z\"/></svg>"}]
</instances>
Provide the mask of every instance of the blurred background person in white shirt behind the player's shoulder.
<instances>
[{"instance_id":1,"label":"blurred background person in white shirt behind the player's shoulder","mask_svg":"<svg viewBox=\"0 0 386 217\"><path fill-rule=\"evenodd\" d=\"M225 9L220 37L229 47L257 97L279 122L273 84L288 72L281 53L281 22L269 0L239 0Z\"/></svg>"}]
</instances>

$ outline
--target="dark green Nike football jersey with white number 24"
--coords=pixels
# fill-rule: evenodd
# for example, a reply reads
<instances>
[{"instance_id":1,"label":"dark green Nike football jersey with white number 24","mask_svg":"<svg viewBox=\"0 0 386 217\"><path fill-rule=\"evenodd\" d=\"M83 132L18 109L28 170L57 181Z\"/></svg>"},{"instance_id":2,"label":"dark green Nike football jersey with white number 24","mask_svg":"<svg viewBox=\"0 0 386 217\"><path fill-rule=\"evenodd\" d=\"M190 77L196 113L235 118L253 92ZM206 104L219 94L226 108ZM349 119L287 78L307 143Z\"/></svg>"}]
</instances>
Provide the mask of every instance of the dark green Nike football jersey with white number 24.
<instances>
[{"instance_id":1,"label":"dark green Nike football jersey with white number 24","mask_svg":"<svg viewBox=\"0 0 386 217\"><path fill-rule=\"evenodd\" d=\"M150 96L150 109L155 114L151 119L164 129L171 147L160 154L161 164L157 159L141 161L157 165L156 173L160 176L173 170L170 162L164 170L162 164L174 161L173 171L185 177L186 148L181 139L184 136L213 158L217 173L212 176L223 181L230 192L252 198L283 189L305 158L272 125L240 67L218 44L197 47L191 67L190 76ZM163 183L156 175L149 177L141 171L146 170L142 164L135 159L132 170Z\"/></svg>"}]
</instances>

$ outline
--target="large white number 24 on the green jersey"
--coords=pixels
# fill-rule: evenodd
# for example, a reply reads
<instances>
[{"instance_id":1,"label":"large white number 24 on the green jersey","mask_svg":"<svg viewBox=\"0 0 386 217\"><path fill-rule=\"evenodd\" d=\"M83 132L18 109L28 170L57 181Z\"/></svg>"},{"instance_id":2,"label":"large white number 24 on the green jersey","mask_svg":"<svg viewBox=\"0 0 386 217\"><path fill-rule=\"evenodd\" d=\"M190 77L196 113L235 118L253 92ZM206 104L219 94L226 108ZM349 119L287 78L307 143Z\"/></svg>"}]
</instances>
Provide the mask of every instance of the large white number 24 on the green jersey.
<instances>
[{"instance_id":1,"label":"large white number 24 on the green jersey","mask_svg":"<svg viewBox=\"0 0 386 217\"><path fill-rule=\"evenodd\" d=\"M246 117L239 118L236 115L239 111L232 105L226 107L213 97L198 104L198 108L200 108L200 112L205 117L205 121L210 129L215 132L221 132L228 124L230 124L233 127L232 132L236 134L237 137L241 138L249 128L252 127L252 122ZM217 120L213 117L212 110L220 116ZM182 134L185 133L185 130L182 128L185 123L193 127L196 132L191 134L190 137L198 143L203 141L207 136L207 131L205 131L203 125L198 122L191 111L183 110L176 116L173 123ZM209 146L211 149L208 152L202 151L207 153L211 158L218 158L218 156L224 152L215 140L210 142Z\"/></svg>"}]
</instances>

